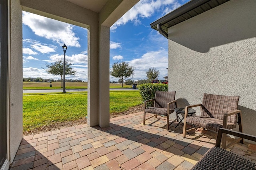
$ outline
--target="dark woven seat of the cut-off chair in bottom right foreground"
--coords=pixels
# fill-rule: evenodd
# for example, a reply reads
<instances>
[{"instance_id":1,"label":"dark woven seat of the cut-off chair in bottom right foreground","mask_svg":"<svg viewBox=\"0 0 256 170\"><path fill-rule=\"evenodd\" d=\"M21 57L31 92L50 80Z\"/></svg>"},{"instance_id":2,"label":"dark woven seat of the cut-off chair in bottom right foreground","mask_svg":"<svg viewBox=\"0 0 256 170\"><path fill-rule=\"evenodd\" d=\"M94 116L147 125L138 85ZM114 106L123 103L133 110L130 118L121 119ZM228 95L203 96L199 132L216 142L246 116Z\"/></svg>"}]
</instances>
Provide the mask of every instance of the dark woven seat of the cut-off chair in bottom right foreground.
<instances>
[{"instance_id":1,"label":"dark woven seat of the cut-off chair in bottom right foreground","mask_svg":"<svg viewBox=\"0 0 256 170\"><path fill-rule=\"evenodd\" d=\"M256 164L233 152L214 146L192 170L255 170Z\"/></svg>"}]
</instances>

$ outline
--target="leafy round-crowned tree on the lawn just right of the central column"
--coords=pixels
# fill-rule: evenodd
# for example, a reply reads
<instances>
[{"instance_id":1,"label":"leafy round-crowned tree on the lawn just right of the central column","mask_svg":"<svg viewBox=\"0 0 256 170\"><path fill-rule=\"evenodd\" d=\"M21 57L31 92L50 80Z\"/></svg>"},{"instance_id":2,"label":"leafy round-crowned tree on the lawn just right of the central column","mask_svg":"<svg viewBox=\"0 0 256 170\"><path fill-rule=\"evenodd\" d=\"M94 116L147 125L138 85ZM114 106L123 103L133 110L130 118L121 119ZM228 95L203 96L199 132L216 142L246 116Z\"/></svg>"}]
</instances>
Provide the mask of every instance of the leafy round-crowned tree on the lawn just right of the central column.
<instances>
[{"instance_id":1,"label":"leafy round-crowned tree on the lawn just right of the central column","mask_svg":"<svg viewBox=\"0 0 256 170\"><path fill-rule=\"evenodd\" d=\"M112 68L110 69L110 75L119 78L122 82L123 87L124 80L134 75L134 70L134 67L129 66L129 64L124 61L122 63L116 62L112 64Z\"/></svg>"}]
</instances>

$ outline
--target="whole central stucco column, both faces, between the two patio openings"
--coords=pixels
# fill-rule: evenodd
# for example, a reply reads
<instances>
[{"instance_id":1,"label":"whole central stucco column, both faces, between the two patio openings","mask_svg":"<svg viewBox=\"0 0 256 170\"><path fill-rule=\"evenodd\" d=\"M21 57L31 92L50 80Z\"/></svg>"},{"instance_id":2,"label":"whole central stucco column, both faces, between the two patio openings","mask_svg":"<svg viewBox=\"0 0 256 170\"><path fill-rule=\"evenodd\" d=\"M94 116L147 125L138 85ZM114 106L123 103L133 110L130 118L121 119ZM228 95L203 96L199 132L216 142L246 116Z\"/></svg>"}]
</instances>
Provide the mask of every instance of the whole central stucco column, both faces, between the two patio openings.
<instances>
[{"instance_id":1,"label":"whole central stucco column, both faces, between the two patio openings","mask_svg":"<svg viewBox=\"0 0 256 170\"><path fill-rule=\"evenodd\" d=\"M93 29L92 29L93 28ZM106 26L88 28L88 125L109 126L109 42Z\"/></svg>"}]
</instances>

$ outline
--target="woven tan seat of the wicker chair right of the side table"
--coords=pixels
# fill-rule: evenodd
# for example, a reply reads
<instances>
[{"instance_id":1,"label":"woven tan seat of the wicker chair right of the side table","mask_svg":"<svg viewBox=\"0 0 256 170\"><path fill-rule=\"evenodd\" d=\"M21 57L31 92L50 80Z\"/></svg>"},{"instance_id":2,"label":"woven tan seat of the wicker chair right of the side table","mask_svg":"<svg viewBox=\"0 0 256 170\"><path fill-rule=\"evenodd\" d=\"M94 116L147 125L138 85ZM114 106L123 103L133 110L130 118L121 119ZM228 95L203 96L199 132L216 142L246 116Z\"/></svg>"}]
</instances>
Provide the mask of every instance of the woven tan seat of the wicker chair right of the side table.
<instances>
[{"instance_id":1,"label":"woven tan seat of the wicker chair right of the side table","mask_svg":"<svg viewBox=\"0 0 256 170\"><path fill-rule=\"evenodd\" d=\"M204 127L207 130L214 130L216 132L218 132L219 128L223 127L223 120L219 120L211 117L204 117L204 116L190 116L190 117L187 117L186 122L199 127ZM232 129L235 127L236 127L236 124L228 123L227 129Z\"/></svg>"}]
</instances>

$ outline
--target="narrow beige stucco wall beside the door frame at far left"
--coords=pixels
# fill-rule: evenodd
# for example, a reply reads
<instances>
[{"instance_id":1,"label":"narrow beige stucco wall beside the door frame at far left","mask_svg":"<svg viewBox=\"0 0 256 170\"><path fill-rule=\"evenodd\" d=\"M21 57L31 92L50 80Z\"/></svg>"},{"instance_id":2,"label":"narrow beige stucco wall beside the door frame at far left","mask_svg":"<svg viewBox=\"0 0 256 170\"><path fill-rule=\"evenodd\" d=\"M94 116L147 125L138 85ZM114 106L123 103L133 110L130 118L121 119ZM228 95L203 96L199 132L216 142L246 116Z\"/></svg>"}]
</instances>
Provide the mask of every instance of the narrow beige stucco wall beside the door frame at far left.
<instances>
[{"instance_id":1,"label":"narrow beige stucco wall beside the door frame at far left","mask_svg":"<svg viewBox=\"0 0 256 170\"><path fill-rule=\"evenodd\" d=\"M22 140L22 10L20 1L11 1L10 22L10 162Z\"/></svg>"}]
</instances>

